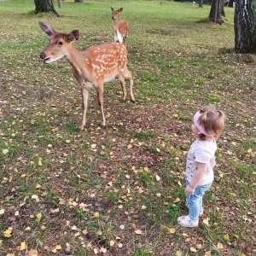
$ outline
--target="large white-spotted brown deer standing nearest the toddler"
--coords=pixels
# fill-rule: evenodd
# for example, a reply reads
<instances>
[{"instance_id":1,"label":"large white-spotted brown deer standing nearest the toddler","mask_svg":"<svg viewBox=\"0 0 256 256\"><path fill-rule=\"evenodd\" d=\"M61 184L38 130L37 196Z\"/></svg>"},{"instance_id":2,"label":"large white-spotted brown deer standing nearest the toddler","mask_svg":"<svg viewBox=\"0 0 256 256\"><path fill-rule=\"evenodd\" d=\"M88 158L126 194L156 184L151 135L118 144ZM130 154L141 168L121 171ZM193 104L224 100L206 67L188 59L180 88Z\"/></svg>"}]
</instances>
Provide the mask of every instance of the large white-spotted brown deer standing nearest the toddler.
<instances>
[{"instance_id":1,"label":"large white-spotted brown deer standing nearest the toddler","mask_svg":"<svg viewBox=\"0 0 256 256\"><path fill-rule=\"evenodd\" d=\"M98 104L101 108L101 127L105 128L106 119L103 111L103 84L113 79L118 79L123 90L123 100L125 101L125 78L129 79L131 101L135 102L132 91L132 75L126 67L127 53L124 44L107 43L86 47L79 50L73 43L79 40L79 30L70 33L57 32L55 29L38 22L42 30L49 36L49 44L40 53L40 58L44 63L58 61L66 56L67 61L73 69L73 77L79 83L83 100L83 116L80 130L84 130L86 121L86 110L88 106L88 96L91 88L96 87Z\"/></svg>"}]
</instances>

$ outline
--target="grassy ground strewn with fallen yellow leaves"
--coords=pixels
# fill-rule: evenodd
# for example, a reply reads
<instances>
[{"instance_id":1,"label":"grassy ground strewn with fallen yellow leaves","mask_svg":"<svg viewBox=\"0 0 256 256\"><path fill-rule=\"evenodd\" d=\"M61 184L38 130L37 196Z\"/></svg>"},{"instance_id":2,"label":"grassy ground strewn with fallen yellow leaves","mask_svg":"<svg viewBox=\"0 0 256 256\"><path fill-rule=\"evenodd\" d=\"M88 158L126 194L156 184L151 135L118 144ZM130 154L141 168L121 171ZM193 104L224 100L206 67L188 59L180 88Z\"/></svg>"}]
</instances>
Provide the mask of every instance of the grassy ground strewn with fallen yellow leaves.
<instances>
[{"instance_id":1,"label":"grassy ground strewn with fallen yellow leaves","mask_svg":"<svg viewBox=\"0 0 256 256\"><path fill-rule=\"evenodd\" d=\"M232 53L234 9L217 26L205 22L209 6L191 3L55 6L61 18L32 15L30 0L0 3L0 255L253 255L255 64ZM110 6L130 24L137 102L105 84L106 131L92 91L80 132L79 88L65 59L39 60L48 37L38 20L79 28L83 48L112 40ZM189 230L176 218L190 119L208 103L227 113L226 129L206 214Z\"/></svg>"}]
</instances>

